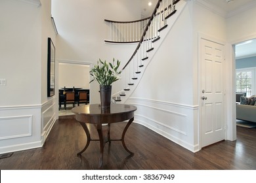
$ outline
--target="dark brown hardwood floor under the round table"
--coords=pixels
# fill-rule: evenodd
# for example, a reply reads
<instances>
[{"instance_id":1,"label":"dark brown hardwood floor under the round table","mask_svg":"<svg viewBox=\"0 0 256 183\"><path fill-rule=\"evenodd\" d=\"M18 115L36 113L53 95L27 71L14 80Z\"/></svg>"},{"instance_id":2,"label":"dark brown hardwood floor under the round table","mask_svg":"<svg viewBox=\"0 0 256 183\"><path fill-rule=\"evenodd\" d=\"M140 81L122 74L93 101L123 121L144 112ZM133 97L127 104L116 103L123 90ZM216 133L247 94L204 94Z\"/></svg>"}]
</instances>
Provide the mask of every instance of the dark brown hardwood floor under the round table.
<instances>
[{"instance_id":1,"label":"dark brown hardwood floor under the round table","mask_svg":"<svg viewBox=\"0 0 256 183\"><path fill-rule=\"evenodd\" d=\"M112 137L120 137L124 122L112 125ZM93 138L95 127L90 125ZM237 141L221 141L192 153L139 124L131 124L125 142L135 152L124 150L121 142L106 144L102 169L256 169L256 128L237 127ZM53 126L43 148L14 152L0 159L0 169L98 169L99 142L76 156L86 142L85 132L75 119L60 119Z\"/></svg>"}]
</instances>

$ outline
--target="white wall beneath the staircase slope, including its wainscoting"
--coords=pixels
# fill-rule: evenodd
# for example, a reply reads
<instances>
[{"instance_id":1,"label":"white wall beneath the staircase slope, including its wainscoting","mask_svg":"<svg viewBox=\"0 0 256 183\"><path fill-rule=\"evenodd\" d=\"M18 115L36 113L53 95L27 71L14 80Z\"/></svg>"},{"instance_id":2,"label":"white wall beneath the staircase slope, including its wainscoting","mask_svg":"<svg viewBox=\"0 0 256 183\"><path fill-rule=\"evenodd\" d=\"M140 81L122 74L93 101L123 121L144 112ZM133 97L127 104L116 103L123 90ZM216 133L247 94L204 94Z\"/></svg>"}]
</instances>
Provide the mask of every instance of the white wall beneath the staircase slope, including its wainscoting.
<instances>
[{"instance_id":1,"label":"white wall beneath the staircase slope, including its wainscoting","mask_svg":"<svg viewBox=\"0 0 256 183\"><path fill-rule=\"evenodd\" d=\"M181 15L166 37L160 33L163 42L127 103L138 107L136 122L196 152L198 139L194 133L197 137L198 131L194 131L194 121L198 106L193 103L192 14L189 5L178 10Z\"/></svg>"}]
</instances>

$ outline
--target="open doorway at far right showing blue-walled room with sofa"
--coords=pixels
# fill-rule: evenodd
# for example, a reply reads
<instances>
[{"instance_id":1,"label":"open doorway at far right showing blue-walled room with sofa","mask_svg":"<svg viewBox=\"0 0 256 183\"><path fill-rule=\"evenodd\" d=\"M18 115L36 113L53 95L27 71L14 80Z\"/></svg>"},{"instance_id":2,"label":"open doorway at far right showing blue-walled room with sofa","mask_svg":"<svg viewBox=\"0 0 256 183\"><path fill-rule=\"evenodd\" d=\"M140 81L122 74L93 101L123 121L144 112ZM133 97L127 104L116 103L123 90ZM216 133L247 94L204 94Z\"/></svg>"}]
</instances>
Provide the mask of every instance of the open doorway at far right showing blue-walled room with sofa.
<instances>
[{"instance_id":1,"label":"open doorway at far right showing blue-walled room with sofa","mask_svg":"<svg viewBox=\"0 0 256 183\"><path fill-rule=\"evenodd\" d=\"M256 39L234 44L236 83L236 126L256 127L256 118L251 106L256 97ZM256 108L256 107L255 107Z\"/></svg>"}]
</instances>

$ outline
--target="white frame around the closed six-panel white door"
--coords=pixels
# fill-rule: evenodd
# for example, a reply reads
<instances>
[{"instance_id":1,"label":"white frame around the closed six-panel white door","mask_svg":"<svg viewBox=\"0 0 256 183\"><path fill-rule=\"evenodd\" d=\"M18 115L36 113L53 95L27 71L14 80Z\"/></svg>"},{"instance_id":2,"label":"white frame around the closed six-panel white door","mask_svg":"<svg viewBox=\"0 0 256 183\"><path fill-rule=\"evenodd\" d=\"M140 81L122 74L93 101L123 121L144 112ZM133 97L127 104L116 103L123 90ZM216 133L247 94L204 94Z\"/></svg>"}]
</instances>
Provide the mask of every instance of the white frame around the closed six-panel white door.
<instances>
[{"instance_id":1,"label":"white frame around the closed six-panel white door","mask_svg":"<svg viewBox=\"0 0 256 183\"><path fill-rule=\"evenodd\" d=\"M201 84L201 80L202 80L202 75L201 75L201 71L202 71L202 52L201 52L201 49L202 49L202 44L201 44L201 40L202 39L205 39L207 41L211 41L211 42L216 42L217 44L223 44L223 48L224 48L224 59L226 58L226 42L220 40L220 39L217 39L215 37L211 37L209 35L205 35L203 33L198 33L198 107L199 107L199 112L198 112L198 139L199 139L199 149L201 150L202 149L202 119L201 119L201 116L202 116L202 105L201 105L201 90L202 90L202 84ZM224 73L226 73L226 59L225 59L225 63L224 63ZM224 129L225 129L225 140L226 140L226 133L227 133L227 129L226 129L226 75L224 76L224 80L223 80L223 90L224 90L224 100L223 100L223 103L224 103L224 111L223 111L223 114L224 114Z\"/></svg>"}]
</instances>

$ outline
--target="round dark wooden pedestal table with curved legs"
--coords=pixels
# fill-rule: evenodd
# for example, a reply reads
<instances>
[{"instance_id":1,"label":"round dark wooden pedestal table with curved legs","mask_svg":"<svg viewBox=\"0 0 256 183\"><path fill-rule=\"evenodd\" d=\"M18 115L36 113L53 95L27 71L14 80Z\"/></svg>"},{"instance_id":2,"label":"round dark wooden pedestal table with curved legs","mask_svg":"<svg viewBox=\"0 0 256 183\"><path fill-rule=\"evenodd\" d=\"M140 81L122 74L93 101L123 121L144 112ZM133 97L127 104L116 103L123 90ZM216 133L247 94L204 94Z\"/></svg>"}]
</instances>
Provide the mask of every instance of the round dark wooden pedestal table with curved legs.
<instances>
[{"instance_id":1,"label":"round dark wooden pedestal table with curved legs","mask_svg":"<svg viewBox=\"0 0 256 183\"><path fill-rule=\"evenodd\" d=\"M103 150L104 144L106 142L121 141L123 144L123 148L125 148L125 150L129 152L129 154L133 154L133 152L131 152L125 145L124 138L125 133L129 128L129 125L131 125L134 120L135 110L137 110L137 107L125 104L111 104L110 108L108 109L102 109L99 104L82 105L72 108L72 112L75 113L75 120L77 120L81 124L87 136L87 143L85 144L85 148L83 148L81 152L78 152L77 155L81 155L83 152L85 152L91 141L100 141L100 162L98 166L99 168L102 167ZM123 129L121 139L110 139L110 124L123 122L125 120L129 121ZM87 124L96 125L99 139L91 139L90 131L87 127ZM106 140L104 140L103 138L102 124L108 124L108 137L106 138Z\"/></svg>"}]
</instances>

